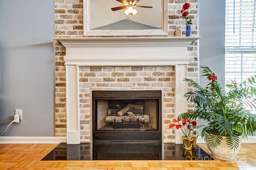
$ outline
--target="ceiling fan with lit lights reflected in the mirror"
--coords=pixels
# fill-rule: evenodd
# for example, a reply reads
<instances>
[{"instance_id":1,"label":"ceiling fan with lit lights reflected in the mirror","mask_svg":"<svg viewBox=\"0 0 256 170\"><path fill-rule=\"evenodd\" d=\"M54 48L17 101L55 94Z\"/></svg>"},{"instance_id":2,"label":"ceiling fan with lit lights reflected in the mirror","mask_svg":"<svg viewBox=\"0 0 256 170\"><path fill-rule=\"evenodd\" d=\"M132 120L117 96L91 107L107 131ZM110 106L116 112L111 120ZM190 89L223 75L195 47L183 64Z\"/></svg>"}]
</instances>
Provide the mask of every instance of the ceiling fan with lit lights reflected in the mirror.
<instances>
[{"instance_id":1,"label":"ceiling fan with lit lights reflected in the mirror","mask_svg":"<svg viewBox=\"0 0 256 170\"><path fill-rule=\"evenodd\" d=\"M134 7L141 7L141 8L152 8L152 6L139 6L136 5L137 2L139 2L140 0L117 0L118 2L121 2L122 4L124 4L124 6L118 6L115 8L111 8L112 11L117 11L117 10L122 10L122 9L126 9L124 11L124 13L126 15L130 14L130 15L135 15L137 13L137 11L134 9Z\"/></svg>"}]
</instances>

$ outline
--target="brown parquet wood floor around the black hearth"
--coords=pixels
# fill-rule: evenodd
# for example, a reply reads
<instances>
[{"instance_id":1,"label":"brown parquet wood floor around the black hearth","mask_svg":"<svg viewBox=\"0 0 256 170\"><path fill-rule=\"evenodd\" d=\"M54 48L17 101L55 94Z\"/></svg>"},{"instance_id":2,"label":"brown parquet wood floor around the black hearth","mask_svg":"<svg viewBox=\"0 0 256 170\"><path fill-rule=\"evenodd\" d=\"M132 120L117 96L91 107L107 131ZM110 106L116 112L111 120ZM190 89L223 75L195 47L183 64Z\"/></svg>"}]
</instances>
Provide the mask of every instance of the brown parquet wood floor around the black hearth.
<instances>
[{"instance_id":1,"label":"brown parquet wood floor around the black hearth","mask_svg":"<svg viewBox=\"0 0 256 170\"><path fill-rule=\"evenodd\" d=\"M226 161L40 161L58 144L0 144L0 170L256 170L256 144L242 144L238 159ZM206 144L198 144L208 151Z\"/></svg>"}]
</instances>

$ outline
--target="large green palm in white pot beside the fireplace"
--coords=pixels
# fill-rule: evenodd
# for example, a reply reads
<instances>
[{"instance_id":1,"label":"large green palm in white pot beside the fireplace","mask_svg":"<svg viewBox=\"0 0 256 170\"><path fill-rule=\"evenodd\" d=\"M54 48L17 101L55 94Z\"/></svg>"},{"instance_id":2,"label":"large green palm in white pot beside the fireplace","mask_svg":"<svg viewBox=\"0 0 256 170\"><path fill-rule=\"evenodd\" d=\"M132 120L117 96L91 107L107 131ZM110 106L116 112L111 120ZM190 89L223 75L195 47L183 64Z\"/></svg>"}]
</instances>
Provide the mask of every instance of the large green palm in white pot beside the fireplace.
<instances>
[{"instance_id":1,"label":"large green palm in white pot beside the fireplace","mask_svg":"<svg viewBox=\"0 0 256 170\"><path fill-rule=\"evenodd\" d=\"M178 118L202 119L202 138L216 158L234 160L240 149L241 139L253 136L256 131L256 76L242 83L236 80L227 84L226 92L210 68L201 66L202 76L209 80L205 87L185 78L192 91L184 94L195 104L193 112L185 112Z\"/></svg>"}]
</instances>

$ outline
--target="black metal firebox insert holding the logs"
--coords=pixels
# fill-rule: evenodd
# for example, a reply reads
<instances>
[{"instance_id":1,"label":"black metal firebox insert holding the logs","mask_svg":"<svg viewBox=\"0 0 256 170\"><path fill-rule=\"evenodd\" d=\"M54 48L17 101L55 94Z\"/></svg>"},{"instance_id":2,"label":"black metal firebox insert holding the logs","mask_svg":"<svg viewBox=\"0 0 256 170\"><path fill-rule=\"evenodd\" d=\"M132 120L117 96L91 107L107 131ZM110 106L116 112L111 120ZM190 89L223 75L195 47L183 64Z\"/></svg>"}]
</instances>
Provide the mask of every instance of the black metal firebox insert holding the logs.
<instances>
[{"instance_id":1,"label":"black metal firebox insert holding the logs","mask_svg":"<svg viewBox=\"0 0 256 170\"><path fill-rule=\"evenodd\" d=\"M161 90L92 91L93 141L162 140Z\"/></svg>"}]
</instances>

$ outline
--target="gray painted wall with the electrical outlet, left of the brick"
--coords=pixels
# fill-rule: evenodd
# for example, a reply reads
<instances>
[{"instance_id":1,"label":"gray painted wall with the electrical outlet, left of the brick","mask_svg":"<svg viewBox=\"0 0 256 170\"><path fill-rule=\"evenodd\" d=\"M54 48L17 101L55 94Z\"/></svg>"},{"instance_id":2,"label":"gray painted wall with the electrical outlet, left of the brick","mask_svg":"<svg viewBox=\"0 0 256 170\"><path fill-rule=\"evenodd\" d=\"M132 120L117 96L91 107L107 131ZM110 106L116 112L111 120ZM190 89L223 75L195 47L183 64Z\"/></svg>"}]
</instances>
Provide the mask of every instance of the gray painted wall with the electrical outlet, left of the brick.
<instances>
[{"instance_id":1,"label":"gray painted wall with the electrical outlet, left of the brick","mask_svg":"<svg viewBox=\"0 0 256 170\"><path fill-rule=\"evenodd\" d=\"M53 136L54 0L0 0L1 136Z\"/></svg>"}]
</instances>

